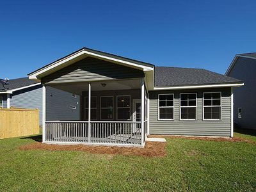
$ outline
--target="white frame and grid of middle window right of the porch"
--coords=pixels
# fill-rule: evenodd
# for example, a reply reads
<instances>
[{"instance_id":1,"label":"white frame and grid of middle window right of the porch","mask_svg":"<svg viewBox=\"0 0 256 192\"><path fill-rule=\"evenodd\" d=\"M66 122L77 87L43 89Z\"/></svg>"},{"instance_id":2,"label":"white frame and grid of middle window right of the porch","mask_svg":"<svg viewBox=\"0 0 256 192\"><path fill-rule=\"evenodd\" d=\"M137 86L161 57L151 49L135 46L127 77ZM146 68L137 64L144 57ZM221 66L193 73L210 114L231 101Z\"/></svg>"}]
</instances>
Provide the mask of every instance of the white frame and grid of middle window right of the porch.
<instances>
[{"instance_id":1,"label":"white frame and grid of middle window right of the porch","mask_svg":"<svg viewBox=\"0 0 256 192\"><path fill-rule=\"evenodd\" d=\"M186 99L182 99L182 95L187 95ZM195 97L195 99L191 99L191 97ZM187 106L182 104L186 103L185 101L187 102ZM186 112L182 113L182 109L186 109ZM189 112L189 109L193 109L195 111ZM182 114L186 114L187 118L182 118ZM189 118L190 115L195 116L195 118ZM197 93L180 93L180 120L197 120Z\"/></svg>"}]
</instances>

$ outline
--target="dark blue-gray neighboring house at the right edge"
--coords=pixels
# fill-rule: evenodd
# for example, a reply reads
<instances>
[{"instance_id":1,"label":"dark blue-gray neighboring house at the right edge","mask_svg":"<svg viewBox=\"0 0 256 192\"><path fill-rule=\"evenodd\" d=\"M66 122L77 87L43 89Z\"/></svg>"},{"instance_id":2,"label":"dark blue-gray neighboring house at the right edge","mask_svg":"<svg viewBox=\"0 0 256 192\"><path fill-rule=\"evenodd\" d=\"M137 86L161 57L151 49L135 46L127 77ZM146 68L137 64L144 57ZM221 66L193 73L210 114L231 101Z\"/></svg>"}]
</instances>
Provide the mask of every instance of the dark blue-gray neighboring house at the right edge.
<instances>
[{"instance_id":1,"label":"dark blue-gray neighboring house at the right edge","mask_svg":"<svg viewBox=\"0 0 256 192\"><path fill-rule=\"evenodd\" d=\"M242 129L256 129L256 52L237 54L225 75L244 81L234 90L234 122Z\"/></svg>"}]
</instances>

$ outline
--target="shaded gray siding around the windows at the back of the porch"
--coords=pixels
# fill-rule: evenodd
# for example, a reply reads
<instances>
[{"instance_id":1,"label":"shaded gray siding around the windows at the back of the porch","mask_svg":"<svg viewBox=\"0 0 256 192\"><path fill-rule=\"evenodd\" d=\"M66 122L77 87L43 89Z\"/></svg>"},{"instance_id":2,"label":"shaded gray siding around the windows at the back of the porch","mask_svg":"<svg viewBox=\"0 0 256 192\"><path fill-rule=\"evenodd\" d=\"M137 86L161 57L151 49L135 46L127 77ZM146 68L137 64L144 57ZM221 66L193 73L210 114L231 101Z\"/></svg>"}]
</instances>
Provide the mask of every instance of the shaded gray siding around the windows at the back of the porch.
<instances>
[{"instance_id":1,"label":"shaded gray siding around the windows at the back of the porch","mask_svg":"<svg viewBox=\"0 0 256 192\"><path fill-rule=\"evenodd\" d=\"M113 120L116 120L116 96L118 95L130 95L131 96L131 121L132 121L132 110L133 99L141 99L141 90L109 90L92 92L92 97L97 97L97 120L100 120L100 96L113 96ZM82 96L82 119L84 120L84 97L88 97L88 92L83 92Z\"/></svg>"}]
</instances>

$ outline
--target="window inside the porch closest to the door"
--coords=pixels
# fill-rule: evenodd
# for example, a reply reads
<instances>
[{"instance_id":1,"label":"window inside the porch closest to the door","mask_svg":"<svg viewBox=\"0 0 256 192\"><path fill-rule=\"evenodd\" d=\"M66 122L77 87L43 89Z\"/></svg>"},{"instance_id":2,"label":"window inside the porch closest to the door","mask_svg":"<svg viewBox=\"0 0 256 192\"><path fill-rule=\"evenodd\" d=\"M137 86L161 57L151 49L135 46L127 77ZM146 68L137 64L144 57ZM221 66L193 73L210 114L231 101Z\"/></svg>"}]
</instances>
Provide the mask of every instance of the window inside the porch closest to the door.
<instances>
[{"instance_id":1,"label":"window inside the porch closest to the door","mask_svg":"<svg viewBox=\"0 0 256 192\"><path fill-rule=\"evenodd\" d=\"M131 120L131 97L130 95L116 96L116 119Z\"/></svg>"}]
</instances>

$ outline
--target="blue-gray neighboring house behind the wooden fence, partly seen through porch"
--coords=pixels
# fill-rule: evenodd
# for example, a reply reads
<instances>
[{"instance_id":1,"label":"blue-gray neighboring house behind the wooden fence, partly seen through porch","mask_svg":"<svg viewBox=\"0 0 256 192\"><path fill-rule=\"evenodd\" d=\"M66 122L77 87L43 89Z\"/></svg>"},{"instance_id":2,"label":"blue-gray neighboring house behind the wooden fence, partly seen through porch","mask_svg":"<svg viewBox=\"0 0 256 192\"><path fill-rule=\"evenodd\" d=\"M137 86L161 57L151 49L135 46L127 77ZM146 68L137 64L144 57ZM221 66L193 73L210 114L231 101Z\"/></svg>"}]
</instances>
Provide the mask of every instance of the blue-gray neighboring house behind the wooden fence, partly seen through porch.
<instances>
[{"instance_id":1,"label":"blue-gray neighboring house behind the wooden fence, partly seen through porch","mask_svg":"<svg viewBox=\"0 0 256 192\"><path fill-rule=\"evenodd\" d=\"M42 84L28 77L10 79L6 90L0 85L0 108L39 109L40 125L42 125ZM58 118L79 120L79 96L63 92L56 88L47 90L47 120ZM58 106L56 106L58 105ZM74 109L76 108L76 109ZM65 111L65 113L63 113Z\"/></svg>"}]
</instances>

